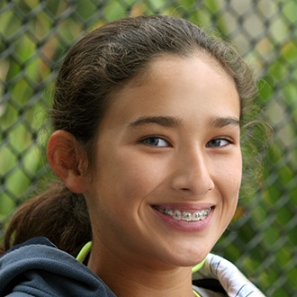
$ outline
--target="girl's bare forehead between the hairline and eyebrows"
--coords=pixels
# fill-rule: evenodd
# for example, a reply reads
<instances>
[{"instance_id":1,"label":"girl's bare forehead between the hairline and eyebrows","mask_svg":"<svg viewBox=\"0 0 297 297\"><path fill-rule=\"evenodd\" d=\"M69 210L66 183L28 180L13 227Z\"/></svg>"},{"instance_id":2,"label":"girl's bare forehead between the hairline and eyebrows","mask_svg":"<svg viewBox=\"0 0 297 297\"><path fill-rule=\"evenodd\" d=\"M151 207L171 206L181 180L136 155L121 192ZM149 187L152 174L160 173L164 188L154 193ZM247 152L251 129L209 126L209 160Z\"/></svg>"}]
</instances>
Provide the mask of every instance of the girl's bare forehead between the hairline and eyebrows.
<instances>
[{"instance_id":1,"label":"girl's bare forehead between the hairline and eyebrows","mask_svg":"<svg viewBox=\"0 0 297 297\"><path fill-rule=\"evenodd\" d=\"M125 116L164 113L186 118L212 112L213 117L239 118L239 105L233 78L211 58L166 55L155 58L145 72L113 94L106 115L123 121Z\"/></svg>"}]
</instances>

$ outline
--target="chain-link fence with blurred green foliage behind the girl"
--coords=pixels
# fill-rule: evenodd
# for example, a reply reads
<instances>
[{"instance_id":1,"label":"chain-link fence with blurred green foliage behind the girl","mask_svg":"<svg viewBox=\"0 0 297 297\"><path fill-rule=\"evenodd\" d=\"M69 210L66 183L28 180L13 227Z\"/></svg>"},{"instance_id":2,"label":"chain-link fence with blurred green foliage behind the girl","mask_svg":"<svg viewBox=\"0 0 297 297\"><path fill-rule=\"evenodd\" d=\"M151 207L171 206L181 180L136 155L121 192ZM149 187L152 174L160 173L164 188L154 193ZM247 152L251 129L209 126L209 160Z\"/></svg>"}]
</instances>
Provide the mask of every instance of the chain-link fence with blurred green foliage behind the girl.
<instances>
[{"instance_id":1,"label":"chain-link fence with blurred green foliage behind the girl","mask_svg":"<svg viewBox=\"0 0 297 297\"><path fill-rule=\"evenodd\" d=\"M47 108L58 63L85 31L128 15L173 14L218 29L257 67L273 127L264 184L240 202L214 252L267 296L297 296L297 1L1 0L0 238L48 175Z\"/></svg>"}]
</instances>

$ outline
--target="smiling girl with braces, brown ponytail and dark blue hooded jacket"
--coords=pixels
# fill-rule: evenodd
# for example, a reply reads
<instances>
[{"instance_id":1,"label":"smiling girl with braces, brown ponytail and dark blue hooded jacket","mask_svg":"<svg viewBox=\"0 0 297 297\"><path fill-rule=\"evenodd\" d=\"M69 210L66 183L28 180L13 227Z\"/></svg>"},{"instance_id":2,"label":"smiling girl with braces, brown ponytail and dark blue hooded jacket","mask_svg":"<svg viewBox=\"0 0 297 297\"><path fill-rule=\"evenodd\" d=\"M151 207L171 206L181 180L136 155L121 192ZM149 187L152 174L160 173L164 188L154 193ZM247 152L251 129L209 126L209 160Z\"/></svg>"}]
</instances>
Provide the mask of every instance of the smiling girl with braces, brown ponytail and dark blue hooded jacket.
<instances>
[{"instance_id":1,"label":"smiling girl with braces, brown ponytail and dark blue hooded jacket","mask_svg":"<svg viewBox=\"0 0 297 297\"><path fill-rule=\"evenodd\" d=\"M15 213L0 294L263 296L209 255L237 207L240 128L256 92L236 50L182 19L86 34L51 111L47 154L62 183Z\"/></svg>"}]
</instances>

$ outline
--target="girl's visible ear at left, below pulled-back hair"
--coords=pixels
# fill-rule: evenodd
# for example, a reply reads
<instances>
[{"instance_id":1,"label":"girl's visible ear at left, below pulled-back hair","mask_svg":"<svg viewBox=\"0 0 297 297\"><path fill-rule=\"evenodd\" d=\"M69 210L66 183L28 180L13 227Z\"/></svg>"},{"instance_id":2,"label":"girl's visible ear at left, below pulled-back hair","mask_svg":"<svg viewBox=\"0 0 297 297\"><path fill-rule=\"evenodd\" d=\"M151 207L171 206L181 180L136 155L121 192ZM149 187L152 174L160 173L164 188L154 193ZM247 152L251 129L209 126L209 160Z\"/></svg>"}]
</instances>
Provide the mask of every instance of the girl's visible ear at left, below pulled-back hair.
<instances>
[{"instance_id":1,"label":"girl's visible ear at left, below pulled-back hair","mask_svg":"<svg viewBox=\"0 0 297 297\"><path fill-rule=\"evenodd\" d=\"M73 193L84 193L87 181L87 158L76 138L65 130L49 137L47 156L53 171Z\"/></svg>"}]
</instances>

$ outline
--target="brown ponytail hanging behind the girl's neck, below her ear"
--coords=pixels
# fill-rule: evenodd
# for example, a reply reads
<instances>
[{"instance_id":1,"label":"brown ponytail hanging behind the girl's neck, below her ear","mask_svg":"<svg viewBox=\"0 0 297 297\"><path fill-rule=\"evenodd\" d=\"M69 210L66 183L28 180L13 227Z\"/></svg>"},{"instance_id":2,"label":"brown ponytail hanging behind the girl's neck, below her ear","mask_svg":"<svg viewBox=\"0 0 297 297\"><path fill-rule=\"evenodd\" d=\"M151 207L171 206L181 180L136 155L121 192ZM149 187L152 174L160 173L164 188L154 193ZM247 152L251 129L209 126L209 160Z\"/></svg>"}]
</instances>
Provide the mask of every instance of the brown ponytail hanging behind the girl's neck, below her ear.
<instances>
[{"instance_id":1,"label":"brown ponytail hanging behind the girl's neck, below her ear","mask_svg":"<svg viewBox=\"0 0 297 297\"><path fill-rule=\"evenodd\" d=\"M41 236L76 257L92 240L84 196L71 193L64 184L56 182L46 192L23 203L5 232L0 255L16 244Z\"/></svg>"}]
</instances>

